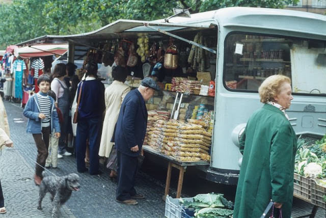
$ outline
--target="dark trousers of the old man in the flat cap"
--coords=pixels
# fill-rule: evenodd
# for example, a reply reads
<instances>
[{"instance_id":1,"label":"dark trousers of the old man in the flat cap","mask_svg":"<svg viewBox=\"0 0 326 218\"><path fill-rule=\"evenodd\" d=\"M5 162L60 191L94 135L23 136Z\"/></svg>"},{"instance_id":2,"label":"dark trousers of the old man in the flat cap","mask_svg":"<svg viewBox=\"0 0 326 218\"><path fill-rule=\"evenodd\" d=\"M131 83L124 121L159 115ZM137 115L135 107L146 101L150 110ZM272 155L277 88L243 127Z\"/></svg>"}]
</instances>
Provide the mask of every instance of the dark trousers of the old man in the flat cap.
<instances>
[{"instance_id":1,"label":"dark trousers of the old man in the flat cap","mask_svg":"<svg viewBox=\"0 0 326 218\"><path fill-rule=\"evenodd\" d=\"M136 195L134 189L135 176L138 167L138 158L125 155L117 150L118 160L118 186L116 199L125 201Z\"/></svg>"}]
</instances>

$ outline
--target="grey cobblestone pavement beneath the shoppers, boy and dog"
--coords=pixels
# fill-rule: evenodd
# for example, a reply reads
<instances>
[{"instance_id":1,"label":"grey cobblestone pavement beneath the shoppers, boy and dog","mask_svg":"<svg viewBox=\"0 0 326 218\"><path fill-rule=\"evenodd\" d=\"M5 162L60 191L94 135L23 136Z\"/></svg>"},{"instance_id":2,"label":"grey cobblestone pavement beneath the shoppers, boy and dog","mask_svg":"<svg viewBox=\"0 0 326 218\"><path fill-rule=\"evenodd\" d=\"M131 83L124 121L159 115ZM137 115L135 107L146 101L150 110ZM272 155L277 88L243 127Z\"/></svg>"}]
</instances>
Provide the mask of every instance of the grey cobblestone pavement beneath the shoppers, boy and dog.
<instances>
[{"instance_id":1,"label":"grey cobblestone pavement beneath the shoppers, boy and dog","mask_svg":"<svg viewBox=\"0 0 326 218\"><path fill-rule=\"evenodd\" d=\"M0 156L0 178L5 195L6 214L3 217L49 217L51 205L49 197L43 200L43 210L37 210L38 187L34 184L33 175L36 159L36 146L32 134L25 132L26 118L22 115L19 104L5 101L11 138L14 149L5 149ZM14 118L21 118L21 123L14 122ZM165 202L162 201L165 189L165 176L153 176L143 171L139 172L136 189L144 194L146 199L139 200L139 204L128 206L115 201L116 183L108 178L108 172L101 166L103 174L91 176L89 173L77 173L75 158L72 156L58 159L58 169L50 171L58 176L69 173L77 173L80 176L80 189L72 193L71 198L61 208L60 217L164 217ZM156 174L166 175L166 169L159 168ZM157 171L157 170L156 170ZM154 170L152 170L154 172ZM173 172L176 173L176 172ZM186 173L187 174L187 173ZM173 175L175 177L176 175ZM186 178L186 177L185 177ZM200 185L195 180L184 180L182 197L216 190L219 186L201 180ZM206 184L207 183L207 184ZM175 196L175 183L171 181L170 194ZM188 188L190 187L190 188ZM213 187L210 189L209 187ZM223 189L223 188L222 188ZM216 192L216 191L215 191ZM295 200L292 210L293 216L304 215L310 212L312 205L303 201ZM324 210L319 208L316 217L325 217Z\"/></svg>"}]
</instances>

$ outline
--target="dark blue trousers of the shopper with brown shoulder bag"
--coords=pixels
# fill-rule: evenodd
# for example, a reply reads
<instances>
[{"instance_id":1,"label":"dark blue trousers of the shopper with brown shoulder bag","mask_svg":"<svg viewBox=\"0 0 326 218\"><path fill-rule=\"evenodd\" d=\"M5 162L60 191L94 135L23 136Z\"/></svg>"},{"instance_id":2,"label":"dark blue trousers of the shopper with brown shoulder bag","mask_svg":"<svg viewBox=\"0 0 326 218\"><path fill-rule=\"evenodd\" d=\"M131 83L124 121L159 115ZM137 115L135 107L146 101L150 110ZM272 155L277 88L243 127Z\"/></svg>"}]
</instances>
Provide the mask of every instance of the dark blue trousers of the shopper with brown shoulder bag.
<instances>
[{"instance_id":1,"label":"dark blue trousers of the shopper with brown shoulder bag","mask_svg":"<svg viewBox=\"0 0 326 218\"><path fill-rule=\"evenodd\" d=\"M99 169L98 150L100 147L100 127L102 118L78 119L76 134L77 171L86 171L86 140L90 142L90 174L97 174Z\"/></svg>"}]
</instances>

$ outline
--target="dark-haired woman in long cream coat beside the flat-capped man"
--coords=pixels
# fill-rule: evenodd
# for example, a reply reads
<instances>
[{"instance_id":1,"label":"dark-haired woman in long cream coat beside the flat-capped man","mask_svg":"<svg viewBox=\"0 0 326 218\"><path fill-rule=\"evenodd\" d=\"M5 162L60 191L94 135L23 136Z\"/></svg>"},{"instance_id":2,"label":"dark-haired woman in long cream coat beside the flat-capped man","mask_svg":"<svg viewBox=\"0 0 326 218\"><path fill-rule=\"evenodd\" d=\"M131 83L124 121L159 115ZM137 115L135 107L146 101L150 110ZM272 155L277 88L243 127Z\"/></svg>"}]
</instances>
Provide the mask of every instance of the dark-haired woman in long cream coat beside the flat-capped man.
<instances>
[{"instance_id":1,"label":"dark-haired woman in long cream coat beside the flat-capped man","mask_svg":"<svg viewBox=\"0 0 326 218\"><path fill-rule=\"evenodd\" d=\"M114 127L118 120L120 107L130 87L124 85L127 78L127 69L121 66L112 70L113 83L105 89L106 112L103 123L99 155L109 157L107 168L111 170L110 178L117 176L117 152L111 142Z\"/></svg>"}]
</instances>

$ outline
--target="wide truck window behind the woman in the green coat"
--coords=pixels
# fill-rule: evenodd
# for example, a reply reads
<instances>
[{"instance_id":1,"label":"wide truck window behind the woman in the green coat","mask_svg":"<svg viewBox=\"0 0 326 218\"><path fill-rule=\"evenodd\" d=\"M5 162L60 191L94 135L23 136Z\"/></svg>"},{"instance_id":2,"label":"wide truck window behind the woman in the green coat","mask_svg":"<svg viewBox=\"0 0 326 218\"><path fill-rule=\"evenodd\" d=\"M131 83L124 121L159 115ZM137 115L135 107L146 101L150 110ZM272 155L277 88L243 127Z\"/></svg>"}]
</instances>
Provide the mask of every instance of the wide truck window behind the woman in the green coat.
<instances>
[{"instance_id":1,"label":"wide truck window behind the woman in the green coat","mask_svg":"<svg viewBox=\"0 0 326 218\"><path fill-rule=\"evenodd\" d=\"M293 93L326 94L326 41L282 36L229 34L224 52L224 86L257 92L275 74L292 80Z\"/></svg>"}]
</instances>

